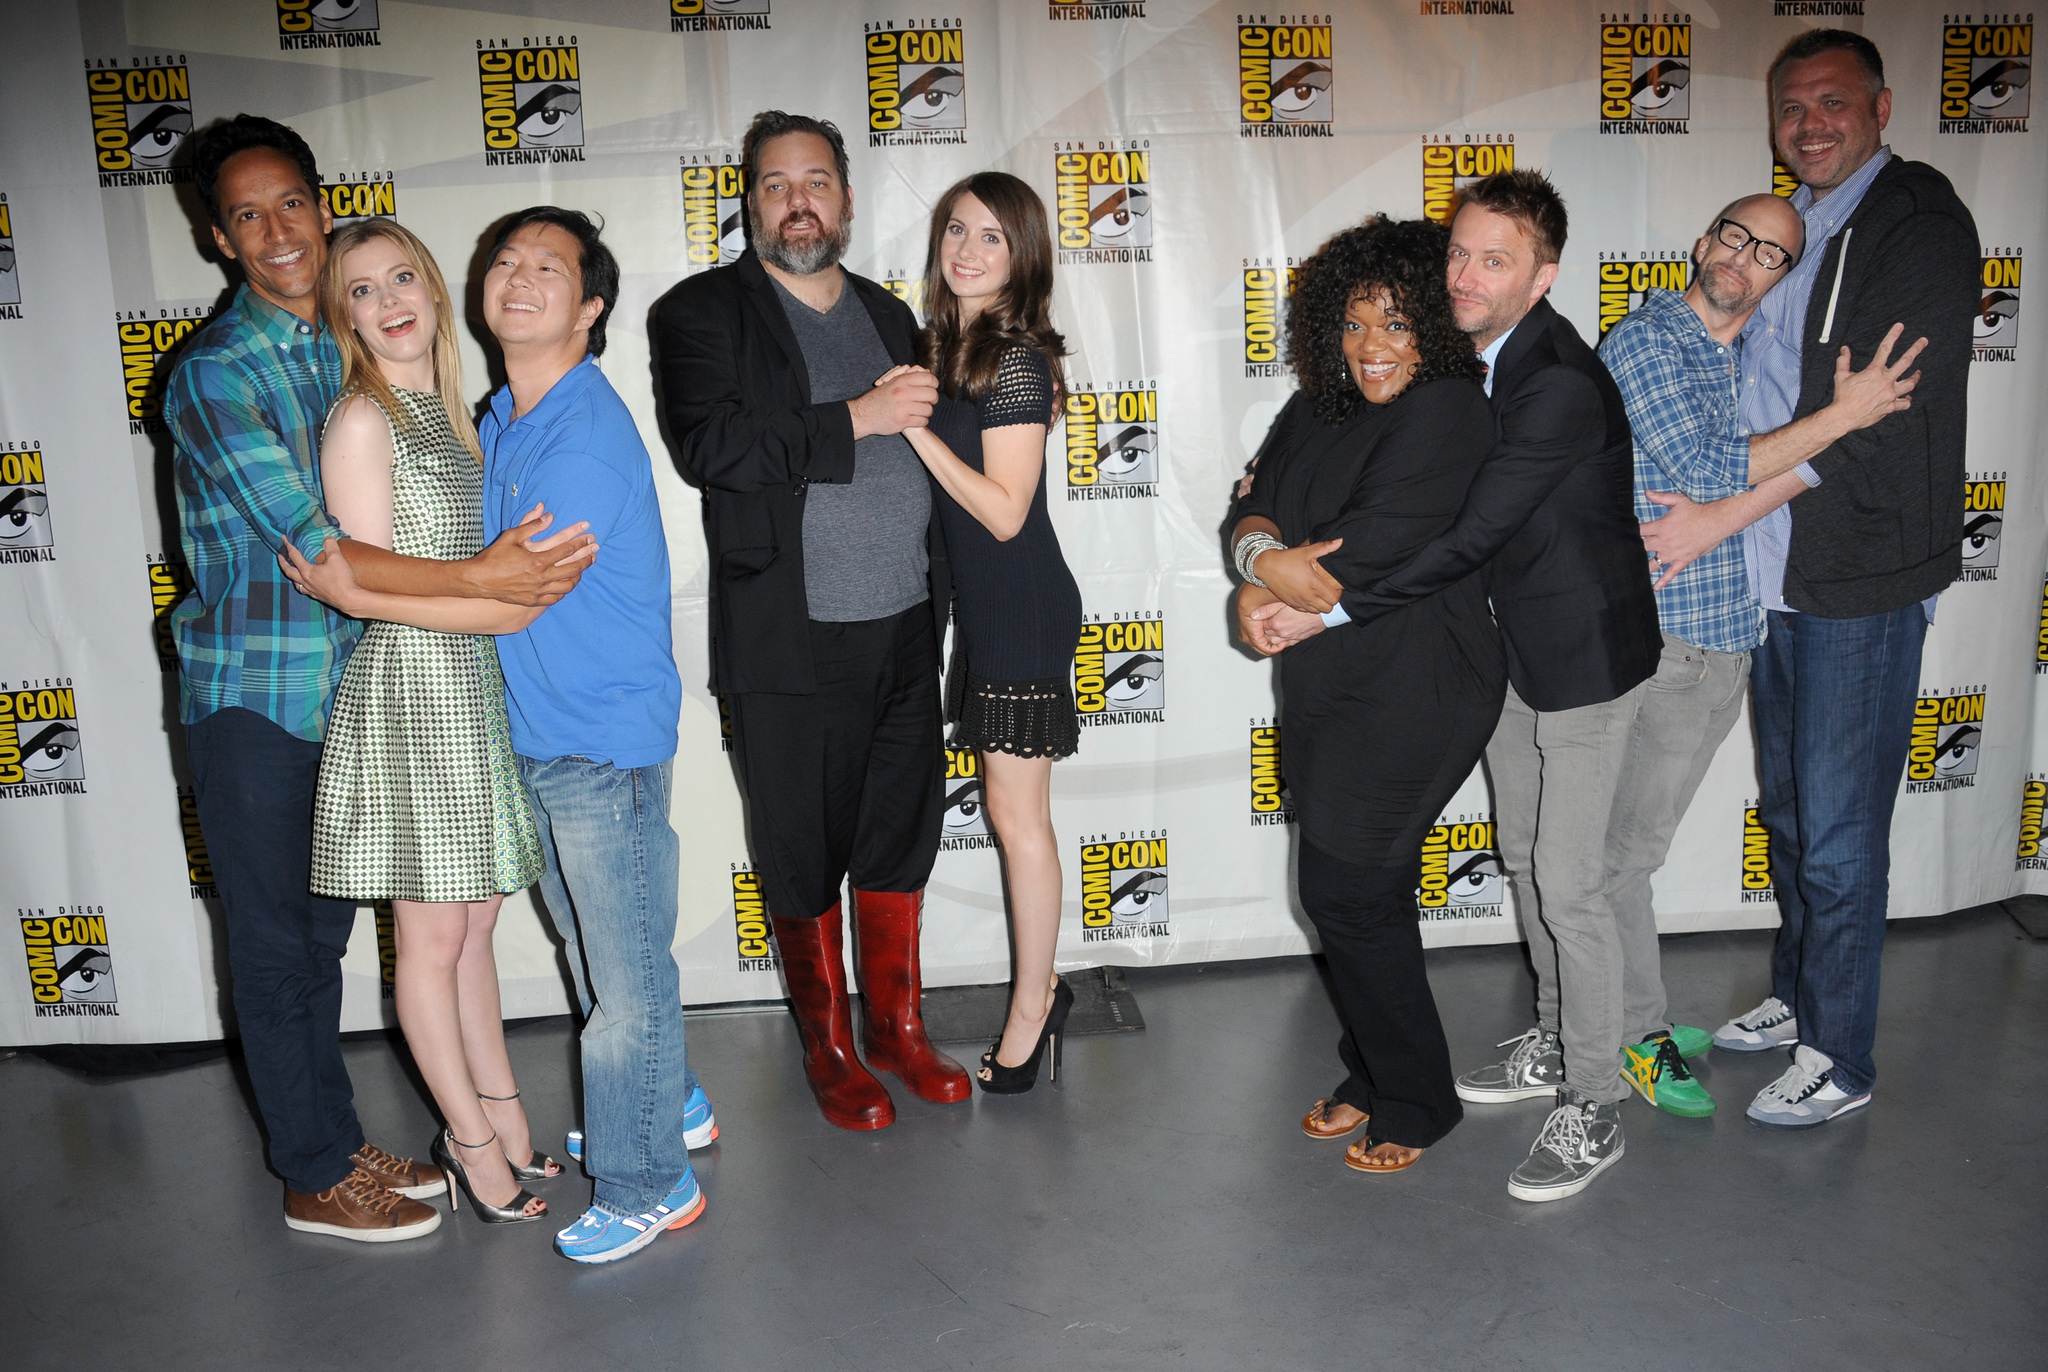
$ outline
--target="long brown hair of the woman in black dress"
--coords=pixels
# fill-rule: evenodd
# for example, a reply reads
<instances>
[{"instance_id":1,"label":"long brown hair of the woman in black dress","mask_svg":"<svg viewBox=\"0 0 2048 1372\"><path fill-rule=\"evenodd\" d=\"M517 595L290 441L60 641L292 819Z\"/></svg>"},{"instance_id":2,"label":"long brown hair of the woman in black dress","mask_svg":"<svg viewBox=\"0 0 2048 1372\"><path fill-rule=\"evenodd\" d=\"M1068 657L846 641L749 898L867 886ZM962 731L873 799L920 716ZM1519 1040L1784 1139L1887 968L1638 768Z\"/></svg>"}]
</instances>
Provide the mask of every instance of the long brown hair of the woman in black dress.
<instances>
[{"instance_id":1,"label":"long brown hair of the woman in black dress","mask_svg":"<svg viewBox=\"0 0 2048 1372\"><path fill-rule=\"evenodd\" d=\"M952 207L963 195L987 205L1010 240L1010 281L965 330L961 299L938 264ZM1053 330L1053 233L1036 190L1010 172L975 172L938 197L932 242L924 254L924 301L930 324L922 338L922 360L946 395L979 401L995 385L1004 354L1024 344L1036 348L1053 369L1053 405L1055 412L1061 408L1067 383L1059 360L1067 356L1067 340Z\"/></svg>"}]
</instances>

